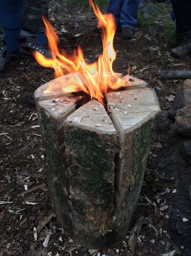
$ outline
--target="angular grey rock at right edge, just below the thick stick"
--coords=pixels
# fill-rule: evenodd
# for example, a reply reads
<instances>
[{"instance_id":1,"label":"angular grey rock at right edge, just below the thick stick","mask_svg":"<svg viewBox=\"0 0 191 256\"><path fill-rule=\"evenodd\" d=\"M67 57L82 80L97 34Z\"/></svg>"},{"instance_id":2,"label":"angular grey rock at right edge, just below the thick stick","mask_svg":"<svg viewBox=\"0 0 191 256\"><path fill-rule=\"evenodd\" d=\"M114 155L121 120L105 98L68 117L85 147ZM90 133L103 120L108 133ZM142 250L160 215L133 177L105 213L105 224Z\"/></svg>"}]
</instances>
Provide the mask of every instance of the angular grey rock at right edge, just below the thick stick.
<instances>
[{"instance_id":1,"label":"angular grey rock at right edge, just below the thick stick","mask_svg":"<svg viewBox=\"0 0 191 256\"><path fill-rule=\"evenodd\" d=\"M168 116L175 119L177 110L189 104L191 104L191 79L186 79L180 86L172 106L168 110Z\"/></svg>"}]
</instances>

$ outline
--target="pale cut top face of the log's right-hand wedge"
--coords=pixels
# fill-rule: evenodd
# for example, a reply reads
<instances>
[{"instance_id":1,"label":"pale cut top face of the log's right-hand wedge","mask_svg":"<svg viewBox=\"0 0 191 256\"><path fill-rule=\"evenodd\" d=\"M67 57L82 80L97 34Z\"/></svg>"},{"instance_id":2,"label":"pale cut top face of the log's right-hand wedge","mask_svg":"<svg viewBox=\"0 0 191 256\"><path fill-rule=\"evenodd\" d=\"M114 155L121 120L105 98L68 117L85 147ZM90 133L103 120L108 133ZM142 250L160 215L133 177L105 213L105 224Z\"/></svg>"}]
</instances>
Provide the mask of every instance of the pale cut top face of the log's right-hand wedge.
<instances>
[{"instance_id":1,"label":"pale cut top face of the log's right-hand wedge","mask_svg":"<svg viewBox=\"0 0 191 256\"><path fill-rule=\"evenodd\" d=\"M121 91L120 94L115 92L112 97L106 94L111 116L123 131L137 128L160 112L157 95L152 88Z\"/></svg>"}]
</instances>

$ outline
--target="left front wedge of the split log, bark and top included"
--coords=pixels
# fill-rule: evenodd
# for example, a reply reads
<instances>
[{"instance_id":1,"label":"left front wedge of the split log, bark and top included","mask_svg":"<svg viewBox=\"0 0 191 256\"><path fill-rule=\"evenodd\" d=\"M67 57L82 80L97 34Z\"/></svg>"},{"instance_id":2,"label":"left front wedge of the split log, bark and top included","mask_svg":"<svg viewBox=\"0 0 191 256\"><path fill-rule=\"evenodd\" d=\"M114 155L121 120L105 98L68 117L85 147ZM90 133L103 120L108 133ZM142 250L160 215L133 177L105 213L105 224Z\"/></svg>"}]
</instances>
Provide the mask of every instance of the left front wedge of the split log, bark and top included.
<instances>
[{"instance_id":1,"label":"left front wedge of the split log, bark and top included","mask_svg":"<svg viewBox=\"0 0 191 256\"><path fill-rule=\"evenodd\" d=\"M37 98L38 99L38 98ZM39 123L47 161L47 180L53 212L64 219L66 230L72 228L68 163L65 154L63 123L67 116L83 102L82 97L67 97L37 102ZM63 214L64 213L64 214Z\"/></svg>"}]
</instances>

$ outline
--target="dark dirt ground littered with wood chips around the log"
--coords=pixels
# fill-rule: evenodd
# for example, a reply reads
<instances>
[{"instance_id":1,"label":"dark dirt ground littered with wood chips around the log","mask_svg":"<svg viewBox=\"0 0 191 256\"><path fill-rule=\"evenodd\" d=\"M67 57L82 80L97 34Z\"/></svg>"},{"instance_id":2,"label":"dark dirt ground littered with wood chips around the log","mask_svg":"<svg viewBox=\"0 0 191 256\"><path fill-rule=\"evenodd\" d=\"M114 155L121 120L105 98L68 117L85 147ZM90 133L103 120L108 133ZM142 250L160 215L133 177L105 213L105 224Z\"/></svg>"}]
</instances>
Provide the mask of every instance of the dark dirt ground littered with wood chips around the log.
<instances>
[{"instance_id":1,"label":"dark dirt ground littered with wood chips around the log","mask_svg":"<svg viewBox=\"0 0 191 256\"><path fill-rule=\"evenodd\" d=\"M86 5L55 2L51 1L50 21L58 32L59 47L69 53L80 44L86 61L95 61L102 51L102 42L93 31L96 19L92 10ZM163 4L159 4L159 9L163 9ZM138 24L132 40L125 41L120 34L114 40L114 71L125 75L130 66L131 75L144 79L155 89L163 111L171 106L183 81L162 81L157 70L190 69L191 65L191 57L177 60L170 56L171 48L163 36L165 19L170 16L154 22L149 30ZM77 34L80 35L75 37ZM89 251L73 241L52 214L40 130L34 127L39 125L34 91L51 79L52 70L17 54L11 56L5 71L0 73L0 255L125 256L129 234L115 248ZM159 119L155 128L134 219L135 223L143 215L151 217L152 222L142 226L135 255L191 255L191 166L180 152L186 137L171 137L168 133L173 123ZM40 188L22 197L20 193L27 191L24 185L28 190ZM43 226L47 217L51 219ZM39 224L43 228L35 241L34 228ZM48 234L48 247L44 247Z\"/></svg>"}]
</instances>

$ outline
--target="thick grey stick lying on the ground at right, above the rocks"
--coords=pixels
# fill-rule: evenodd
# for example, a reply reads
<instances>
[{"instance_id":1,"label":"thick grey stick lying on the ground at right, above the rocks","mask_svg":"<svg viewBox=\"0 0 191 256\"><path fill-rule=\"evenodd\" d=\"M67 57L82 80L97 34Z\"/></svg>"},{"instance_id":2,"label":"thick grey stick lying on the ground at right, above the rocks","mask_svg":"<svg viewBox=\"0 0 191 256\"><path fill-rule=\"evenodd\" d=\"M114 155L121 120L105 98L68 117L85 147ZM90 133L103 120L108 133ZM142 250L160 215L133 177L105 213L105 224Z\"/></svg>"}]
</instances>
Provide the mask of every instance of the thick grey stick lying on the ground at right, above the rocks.
<instances>
[{"instance_id":1,"label":"thick grey stick lying on the ground at right, above the rocks","mask_svg":"<svg viewBox=\"0 0 191 256\"><path fill-rule=\"evenodd\" d=\"M187 79L191 78L191 70L158 70L160 79Z\"/></svg>"}]
</instances>

